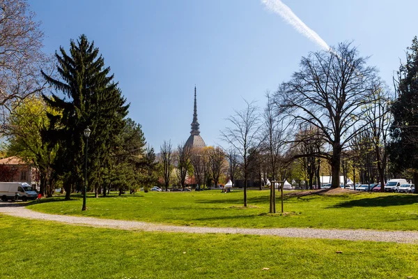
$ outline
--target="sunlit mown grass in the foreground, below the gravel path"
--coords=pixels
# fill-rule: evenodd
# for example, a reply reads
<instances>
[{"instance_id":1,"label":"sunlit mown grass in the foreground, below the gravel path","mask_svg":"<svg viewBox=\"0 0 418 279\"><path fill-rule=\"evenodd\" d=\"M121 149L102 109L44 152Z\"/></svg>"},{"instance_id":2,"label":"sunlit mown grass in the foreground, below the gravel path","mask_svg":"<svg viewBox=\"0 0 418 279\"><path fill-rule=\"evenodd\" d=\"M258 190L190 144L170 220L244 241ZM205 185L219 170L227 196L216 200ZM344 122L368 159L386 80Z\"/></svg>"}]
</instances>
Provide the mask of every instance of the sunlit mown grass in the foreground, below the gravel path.
<instances>
[{"instance_id":1,"label":"sunlit mown grass in the foreground, below the gravel path","mask_svg":"<svg viewBox=\"0 0 418 279\"><path fill-rule=\"evenodd\" d=\"M418 276L412 244L130 232L2 215L0 243L0 278Z\"/></svg>"}]
</instances>

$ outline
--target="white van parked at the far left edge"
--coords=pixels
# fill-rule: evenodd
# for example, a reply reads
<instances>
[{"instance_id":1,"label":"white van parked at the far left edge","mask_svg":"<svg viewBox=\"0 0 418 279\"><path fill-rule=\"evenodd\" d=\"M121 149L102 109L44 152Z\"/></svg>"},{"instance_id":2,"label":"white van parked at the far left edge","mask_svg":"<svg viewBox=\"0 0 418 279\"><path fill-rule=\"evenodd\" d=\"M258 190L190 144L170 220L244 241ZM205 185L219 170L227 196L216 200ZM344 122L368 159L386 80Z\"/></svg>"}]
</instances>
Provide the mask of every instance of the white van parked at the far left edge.
<instances>
[{"instance_id":1,"label":"white van parked at the far left edge","mask_svg":"<svg viewBox=\"0 0 418 279\"><path fill-rule=\"evenodd\" d=\"M3 202L8 199L22 199L26 202L28 199L36 199L38 193L25 182L0 182L0 197Z\"/></svg>"}]
</instances>

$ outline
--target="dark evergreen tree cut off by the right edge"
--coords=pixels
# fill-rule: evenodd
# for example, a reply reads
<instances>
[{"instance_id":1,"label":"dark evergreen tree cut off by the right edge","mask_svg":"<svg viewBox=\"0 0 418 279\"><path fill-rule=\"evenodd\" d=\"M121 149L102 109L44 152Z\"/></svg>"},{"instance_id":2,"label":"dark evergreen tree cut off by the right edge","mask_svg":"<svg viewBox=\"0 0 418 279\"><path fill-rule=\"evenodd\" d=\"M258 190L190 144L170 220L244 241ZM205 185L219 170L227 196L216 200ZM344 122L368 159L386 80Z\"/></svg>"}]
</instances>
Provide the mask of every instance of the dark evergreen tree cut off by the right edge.
<instances>
[{"instance_id":1,"label":"dark evergreen tree cut off by the right edge","mask_svg":"<svg viewBox=\"0 0 418 279\"><path fill-rule=\"evenodd\" d=\"M394 142L390 145L390 158L398 171L415 169L414 180L418 182L418 40L408 47L406 63L398 70L398 94L392 104L391 127ZM418 190L418 188L417 188ZM416 191L417 191L416 190Z\"/></svg>"}]
</instances>

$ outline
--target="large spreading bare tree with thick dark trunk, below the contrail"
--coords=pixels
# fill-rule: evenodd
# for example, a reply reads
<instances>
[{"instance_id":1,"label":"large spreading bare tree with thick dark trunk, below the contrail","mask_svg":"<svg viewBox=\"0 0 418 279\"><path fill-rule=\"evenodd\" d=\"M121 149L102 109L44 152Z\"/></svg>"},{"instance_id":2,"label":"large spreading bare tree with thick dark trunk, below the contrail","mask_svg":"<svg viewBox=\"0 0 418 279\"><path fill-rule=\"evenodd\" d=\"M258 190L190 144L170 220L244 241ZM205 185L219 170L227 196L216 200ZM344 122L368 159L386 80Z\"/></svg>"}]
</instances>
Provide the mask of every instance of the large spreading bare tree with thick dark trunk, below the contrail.
<instances>
[{"instance_id":1,"label":"large spreading bare tree with thick dark trunk, below the contrail","mask_svg":"<svg viewBox=\"0 0 418 279\"><path fill-rule=\"evenodd\" d=\"M300 62L301 69L275 94L279 112L295 125L318 128L332 152L318 154L332 168L332 187L339 187L341 152L368 125L362 107L376 88L376 68L366 66L350 43L330 51L314 52Z\"/></svg>"}]
</instances>

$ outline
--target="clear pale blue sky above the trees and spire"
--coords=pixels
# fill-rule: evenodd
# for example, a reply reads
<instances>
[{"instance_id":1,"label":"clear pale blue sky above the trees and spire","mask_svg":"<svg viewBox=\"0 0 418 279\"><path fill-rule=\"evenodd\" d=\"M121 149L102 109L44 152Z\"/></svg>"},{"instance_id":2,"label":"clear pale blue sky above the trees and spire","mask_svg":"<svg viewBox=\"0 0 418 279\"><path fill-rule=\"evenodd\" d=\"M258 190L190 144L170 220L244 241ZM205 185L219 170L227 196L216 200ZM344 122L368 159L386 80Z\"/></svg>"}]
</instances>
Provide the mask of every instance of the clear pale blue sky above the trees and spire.
<instances>
[{"instance_id":1,"label":"clear pale blue sky above the trees and spire","mask_svg":"<svg viewBox=\"0 0 418 279\"><path fill-rule=\"evenodd\" d=\"M416 0L284 0L328 45L353 40L392 86L405 49L418 34ZM42 21L45 52L85 33L94 40L158 152L189 137L197 87L201 136L224 142L219 130L247 100L265 104L319 50L259 0L29 0Z\"/></svg>"}]
</instances>

